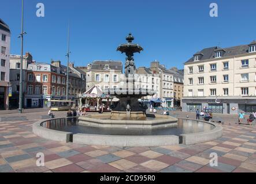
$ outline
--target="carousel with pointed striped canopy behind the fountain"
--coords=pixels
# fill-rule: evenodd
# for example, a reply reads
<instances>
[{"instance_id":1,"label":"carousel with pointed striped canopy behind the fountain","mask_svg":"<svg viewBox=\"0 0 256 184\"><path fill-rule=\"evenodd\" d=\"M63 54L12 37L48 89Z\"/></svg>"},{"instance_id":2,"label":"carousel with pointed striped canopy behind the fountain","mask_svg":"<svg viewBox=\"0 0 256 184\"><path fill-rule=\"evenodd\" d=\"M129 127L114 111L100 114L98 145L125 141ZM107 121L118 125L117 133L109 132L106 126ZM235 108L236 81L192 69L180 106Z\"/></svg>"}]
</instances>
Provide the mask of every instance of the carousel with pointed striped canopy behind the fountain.
<instances>
[{"instance_id":1,"label":"carousel with pointed striped canopy behind the fountain","mask_svg":"<svg viewBox=\"0 0 256 184\"><path fill-rule=\"evenodd\" d=\"M113 99L111 95L103 94L98 86L94 86L80 95L79 108L85 108L86 112L98 112L100 107L103 107L105 112L110 112Z\"/></svg>"}]
</instances>

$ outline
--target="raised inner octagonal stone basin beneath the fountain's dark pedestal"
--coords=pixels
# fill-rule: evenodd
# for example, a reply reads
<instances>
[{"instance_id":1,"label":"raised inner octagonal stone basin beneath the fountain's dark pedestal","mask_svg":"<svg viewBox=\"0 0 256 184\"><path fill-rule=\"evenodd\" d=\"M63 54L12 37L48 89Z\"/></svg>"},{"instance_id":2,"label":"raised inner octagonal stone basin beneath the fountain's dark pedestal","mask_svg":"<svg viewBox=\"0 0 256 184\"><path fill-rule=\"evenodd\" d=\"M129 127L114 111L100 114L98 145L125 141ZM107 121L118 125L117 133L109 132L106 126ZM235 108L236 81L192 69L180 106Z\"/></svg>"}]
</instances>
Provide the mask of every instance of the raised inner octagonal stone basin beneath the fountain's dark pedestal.
<instances>
[{"instance_id":1,"label":"raised inner octagonal stone basin beneath the fountain's dark pedestal","mask_svg":"<svg viewBox=\"0 0 256 184\"><path fill-rule=\"evenodd\" d=\"M113 113L115 114L114 117L121 119L113 120ZM135 120L124 120L125 116L126 112L112 112L112 114L90 114L84 117L79 117L79 125L99 128L154 129L162 127L175 127L177 126L178 121L177 118L172 116L161 116L154 114L147 115L151 117L147 117L146 120L137 120L137 116L143 116L142 114L138 114L138 112L131 112L131 117L134 117Z\"/></svg>"}]
</instances>

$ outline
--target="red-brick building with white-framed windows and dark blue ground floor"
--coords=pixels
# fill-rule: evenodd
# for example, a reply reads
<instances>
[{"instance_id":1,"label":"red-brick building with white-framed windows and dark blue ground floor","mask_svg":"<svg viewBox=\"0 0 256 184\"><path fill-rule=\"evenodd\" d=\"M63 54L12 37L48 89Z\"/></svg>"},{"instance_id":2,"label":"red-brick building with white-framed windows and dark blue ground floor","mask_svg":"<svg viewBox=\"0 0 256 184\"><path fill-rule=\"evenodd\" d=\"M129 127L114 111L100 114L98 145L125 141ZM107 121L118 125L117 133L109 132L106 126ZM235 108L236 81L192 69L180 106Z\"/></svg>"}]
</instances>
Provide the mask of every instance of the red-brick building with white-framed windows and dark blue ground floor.
<instances>
[{"instance_id":1,"label":"red-brick building with white-framed windows and dark blue ground floor","mask_svg":"<svg viewBox=\"0 0 256 184\"><path fill-rule=\"evenodd\" d=\"M50 107L51 99L66 99L66 73L48 63L32 63L27 68L25 108Z\"/></svg>"}]
</instances>

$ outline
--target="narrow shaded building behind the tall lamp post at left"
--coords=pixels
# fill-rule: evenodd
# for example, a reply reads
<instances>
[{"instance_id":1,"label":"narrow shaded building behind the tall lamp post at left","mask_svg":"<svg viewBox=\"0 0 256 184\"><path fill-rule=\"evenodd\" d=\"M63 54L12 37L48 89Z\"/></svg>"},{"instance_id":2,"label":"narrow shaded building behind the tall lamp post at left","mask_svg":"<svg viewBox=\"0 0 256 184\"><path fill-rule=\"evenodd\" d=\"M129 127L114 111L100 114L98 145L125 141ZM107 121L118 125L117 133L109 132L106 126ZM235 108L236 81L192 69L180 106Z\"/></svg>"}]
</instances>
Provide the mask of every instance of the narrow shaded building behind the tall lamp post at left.
<instances>
[{"instance_id":1,"label":"narrow shaded building behind the tall lamp post at left","mask_svg":"<svg viewBox=\"0 0 256 184\"><path fill-rule=\"evenodd\" d=\"M17 109L18 101L19 101L19 93L20 93L20 55L10 55L10 88L12 89L12 94L9 96L9 109ZM33 63L33 57L31 53L26 52L23 56L23 97L24 93L27 90L27 80L26 80L26 72L28 68L28 64ZM23 102L24 104L24 102Z\"/></svg>"}]
</instances>

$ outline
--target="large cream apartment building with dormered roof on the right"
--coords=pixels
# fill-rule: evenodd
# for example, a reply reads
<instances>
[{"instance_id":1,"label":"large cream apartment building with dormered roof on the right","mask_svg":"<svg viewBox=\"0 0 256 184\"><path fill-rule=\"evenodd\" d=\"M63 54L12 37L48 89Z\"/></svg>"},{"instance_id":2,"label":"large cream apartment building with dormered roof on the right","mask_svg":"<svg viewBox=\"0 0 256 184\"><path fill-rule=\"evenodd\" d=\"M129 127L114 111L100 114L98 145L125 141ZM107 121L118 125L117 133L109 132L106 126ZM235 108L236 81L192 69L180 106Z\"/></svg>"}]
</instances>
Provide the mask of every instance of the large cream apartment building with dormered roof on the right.
<instances>
[{"instance_id":1,"label":"large cream apartment building with dormered roof on the right","mask_svg":"<svg viewBox=\"0 0 256 184\"><path fill-rule=\"evenodd\" d=\"M210 47L184 64L183 111L256 111L256 41L229 48Z\"/></svg>"}]
</instances>

